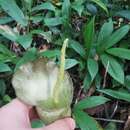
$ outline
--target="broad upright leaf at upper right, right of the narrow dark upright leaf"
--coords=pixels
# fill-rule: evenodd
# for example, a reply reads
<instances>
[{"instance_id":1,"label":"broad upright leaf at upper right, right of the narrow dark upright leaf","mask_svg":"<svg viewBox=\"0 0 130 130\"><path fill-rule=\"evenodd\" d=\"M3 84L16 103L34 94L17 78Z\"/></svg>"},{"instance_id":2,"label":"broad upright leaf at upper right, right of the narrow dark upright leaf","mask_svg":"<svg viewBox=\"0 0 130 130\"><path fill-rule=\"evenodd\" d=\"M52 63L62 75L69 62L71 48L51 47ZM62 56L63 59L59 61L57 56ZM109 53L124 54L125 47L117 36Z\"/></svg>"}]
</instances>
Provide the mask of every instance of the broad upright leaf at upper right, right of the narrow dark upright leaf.
<instances>
[{"instance_id":1,"label":"broad upright leaf at upper right, right of the narrow dark upright leaf","mask_svg":"<svg viewBox=\"0 0 130 130\"><path fill-rule=\"evenodd\" d=\"M104 39L108 38L113 32L113 22L110 19L104 23L98 35L98 43L101 43Z\"/></svg>"}]
</instances>

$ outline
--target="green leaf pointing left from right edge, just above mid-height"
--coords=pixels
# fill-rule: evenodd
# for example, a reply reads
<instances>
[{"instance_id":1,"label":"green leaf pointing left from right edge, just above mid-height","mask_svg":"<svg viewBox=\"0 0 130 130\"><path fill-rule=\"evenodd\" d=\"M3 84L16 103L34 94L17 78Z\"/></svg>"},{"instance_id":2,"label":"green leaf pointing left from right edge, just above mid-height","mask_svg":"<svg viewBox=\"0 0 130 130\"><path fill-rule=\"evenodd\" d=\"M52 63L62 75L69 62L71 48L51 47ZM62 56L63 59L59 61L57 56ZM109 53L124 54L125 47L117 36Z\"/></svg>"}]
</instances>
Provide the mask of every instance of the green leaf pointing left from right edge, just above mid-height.
<instances>
[{"instance_id":1,"label":"green leaf pointing left from right edge, just above mid-height","mask_svg":"<svg viewBox=\"0 0 130 130\"><path fill-rule=\"evenodd\" d=\"M130 50L124 48L111 48L106 50L107 53L122 59L130 60Z\"/></svg>"}]
</instances>

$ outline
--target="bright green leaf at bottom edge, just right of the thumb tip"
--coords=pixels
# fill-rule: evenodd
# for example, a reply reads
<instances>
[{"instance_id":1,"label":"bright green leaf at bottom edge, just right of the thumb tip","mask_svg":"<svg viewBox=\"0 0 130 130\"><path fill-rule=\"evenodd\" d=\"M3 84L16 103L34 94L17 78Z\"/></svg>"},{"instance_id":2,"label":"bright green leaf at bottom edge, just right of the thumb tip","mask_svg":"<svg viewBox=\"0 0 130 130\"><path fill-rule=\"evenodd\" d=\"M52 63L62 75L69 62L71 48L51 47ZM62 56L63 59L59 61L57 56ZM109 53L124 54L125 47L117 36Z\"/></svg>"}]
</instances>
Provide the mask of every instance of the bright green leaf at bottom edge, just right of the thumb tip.
<instances>
[{"instance_id":1,"label":"bright green leaf at bottom edge, just right of the thumb tip","mask_svg":"<svg viewBox=\"0 0 130 130\"><path fill-rule=\"evenodd\" d=\"M74 117L81 130L103 130L98 122L81 110L74 110Z\"/></svg>"}]
</instances>

